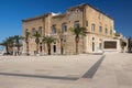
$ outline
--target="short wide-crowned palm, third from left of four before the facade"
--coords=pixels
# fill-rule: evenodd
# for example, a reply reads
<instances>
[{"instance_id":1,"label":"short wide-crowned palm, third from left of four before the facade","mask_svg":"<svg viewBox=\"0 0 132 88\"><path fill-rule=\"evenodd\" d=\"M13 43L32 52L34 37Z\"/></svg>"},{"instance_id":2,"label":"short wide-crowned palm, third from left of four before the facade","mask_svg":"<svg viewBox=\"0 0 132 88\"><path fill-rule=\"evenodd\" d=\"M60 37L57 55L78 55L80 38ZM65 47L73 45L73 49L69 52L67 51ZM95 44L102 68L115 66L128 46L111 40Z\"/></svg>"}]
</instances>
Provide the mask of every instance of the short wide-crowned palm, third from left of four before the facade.
<instances>
[{"instance_id":1,"label":"short wide-crowned palm, third from left of four before the facade","mask_svg":"<svg viewBox=\"0 0 132 88\"><path fill-rule=\"evenodd\" d=\"M43 42L47 44L48 55L51 55L51 44L54 43L55 41L56 38L54 38L53 36L46 36L43 38Z\"/></svg>"}]
</instances>

